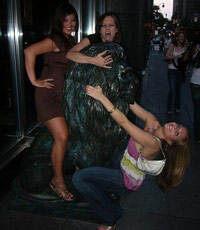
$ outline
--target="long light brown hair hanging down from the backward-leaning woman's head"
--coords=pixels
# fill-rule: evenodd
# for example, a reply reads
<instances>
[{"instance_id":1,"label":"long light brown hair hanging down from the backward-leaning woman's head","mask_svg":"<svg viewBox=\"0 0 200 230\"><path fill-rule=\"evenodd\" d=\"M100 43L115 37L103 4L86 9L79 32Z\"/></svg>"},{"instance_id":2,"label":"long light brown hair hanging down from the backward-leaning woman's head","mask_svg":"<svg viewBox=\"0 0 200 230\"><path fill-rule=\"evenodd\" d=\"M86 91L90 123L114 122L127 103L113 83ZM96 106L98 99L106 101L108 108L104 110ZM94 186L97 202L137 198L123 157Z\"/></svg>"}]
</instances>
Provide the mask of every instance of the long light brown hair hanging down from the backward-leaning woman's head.
<instances>
[{"instance_id":1,"label":"long light brown hair hanging down from the backward-leaning woman's head","mask_svg":"<svg viewBox=\"0 0 200 230\"><path fill-rule=\"evenodd\" d=\"M186 168L190 162L189 138L168 146L166 150L166 165L157 177L157 183L164 192L169 192L180 185Z\"/></svg>"}]
</instances>

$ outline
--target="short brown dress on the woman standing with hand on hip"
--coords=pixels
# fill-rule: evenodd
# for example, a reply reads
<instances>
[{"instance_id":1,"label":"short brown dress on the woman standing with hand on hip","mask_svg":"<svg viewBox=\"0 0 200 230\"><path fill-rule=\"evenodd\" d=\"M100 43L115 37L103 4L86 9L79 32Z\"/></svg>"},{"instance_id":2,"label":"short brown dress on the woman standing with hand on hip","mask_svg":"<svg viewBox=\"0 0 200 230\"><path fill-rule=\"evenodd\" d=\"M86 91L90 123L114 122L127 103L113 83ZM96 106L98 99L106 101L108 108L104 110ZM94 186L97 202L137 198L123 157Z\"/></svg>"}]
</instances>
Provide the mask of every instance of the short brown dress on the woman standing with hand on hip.
<instances>
[{"instance_id":1,"label":"short brown dress on the woman standing with hand on hip","mask_svg":"<svg viewBox=\"0 0 200 230\"><path fill-rule=\"evenodd\" d=\"M73 38L64 42L58 35L49 36L59 48L57 52L44 54L44 67L40 79L52 78L54 86L51 89L35 89L35 104L38 120L45 122L55 117L64 117L62 108L62 89L64 76L69 60L66 53L74 44ZM53 44L52 44L53 45Z\"/></svg>"}]
</instances>

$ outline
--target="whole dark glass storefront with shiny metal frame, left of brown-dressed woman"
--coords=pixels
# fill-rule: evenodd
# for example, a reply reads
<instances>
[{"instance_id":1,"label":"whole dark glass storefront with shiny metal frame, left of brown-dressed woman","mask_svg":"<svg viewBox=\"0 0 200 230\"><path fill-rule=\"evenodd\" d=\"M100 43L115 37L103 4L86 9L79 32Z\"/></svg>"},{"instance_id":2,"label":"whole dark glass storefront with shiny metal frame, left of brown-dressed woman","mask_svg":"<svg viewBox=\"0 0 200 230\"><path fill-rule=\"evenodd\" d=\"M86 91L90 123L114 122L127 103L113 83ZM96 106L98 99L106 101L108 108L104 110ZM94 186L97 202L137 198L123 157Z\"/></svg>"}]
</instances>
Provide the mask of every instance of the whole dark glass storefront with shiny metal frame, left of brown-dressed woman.
<instances>
[{"instance_id":1,"label":"whole dark glass storefront with shiny metal frame, left of brown-dressed woman","mask_svg":"<svg viewBox=\"0 0 200 230\"><path fill-rule=\"evenodd\" d=\"M66 2L66 1L63 1ZM23 50L45 38L57 0L0 1L0 157L37 127L35 88L26 75ZM42 55L36 60L40 77Z\"/></svg>"}]
</instances>

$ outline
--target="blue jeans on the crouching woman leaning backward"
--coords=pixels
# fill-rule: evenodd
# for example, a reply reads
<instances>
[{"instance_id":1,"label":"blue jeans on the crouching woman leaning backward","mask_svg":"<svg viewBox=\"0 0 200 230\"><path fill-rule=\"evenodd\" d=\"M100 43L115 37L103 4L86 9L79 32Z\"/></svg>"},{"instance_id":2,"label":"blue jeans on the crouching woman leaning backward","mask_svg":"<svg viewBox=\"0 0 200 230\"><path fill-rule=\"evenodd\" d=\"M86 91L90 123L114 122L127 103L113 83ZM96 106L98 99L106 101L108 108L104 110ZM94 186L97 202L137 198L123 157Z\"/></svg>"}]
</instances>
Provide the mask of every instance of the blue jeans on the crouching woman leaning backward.
<instances>
[{"instance_id":1,"label":"blue jeans on the crouching woman leaning backward","mask_svg":"<svg viewBox=\"0 0 200 230\"><path fill-rule=\"evenodd\" d=\"M104 224L114 225L122 215L122 208L109 193L122 195L127 191L122 171L103 167L85 168L75 172L72 180Z\"/></svg>"}]
</instances>

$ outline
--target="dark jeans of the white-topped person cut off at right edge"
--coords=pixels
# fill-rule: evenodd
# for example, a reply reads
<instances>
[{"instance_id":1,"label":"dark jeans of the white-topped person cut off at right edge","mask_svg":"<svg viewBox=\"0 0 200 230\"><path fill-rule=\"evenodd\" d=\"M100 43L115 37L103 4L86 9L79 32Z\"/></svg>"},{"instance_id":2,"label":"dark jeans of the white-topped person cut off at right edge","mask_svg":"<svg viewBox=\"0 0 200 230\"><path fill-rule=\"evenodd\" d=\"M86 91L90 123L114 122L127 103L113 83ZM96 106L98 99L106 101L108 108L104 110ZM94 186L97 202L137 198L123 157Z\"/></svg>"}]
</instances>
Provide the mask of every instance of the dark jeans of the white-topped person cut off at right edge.
<instances>
[{"instance_id":1,"label":"dark jeans of the white-topped person cut off at right edge","mask_svg":"<svg viewBox=\"0 0 200 230\"><path fill-rule=\"evenodd\" d=\"M194 134L200 140L200 85L190 83L194 107Z\"/></svg>"}]
</instances>

